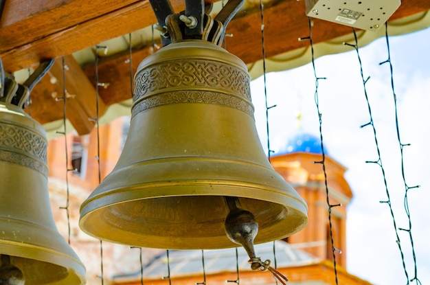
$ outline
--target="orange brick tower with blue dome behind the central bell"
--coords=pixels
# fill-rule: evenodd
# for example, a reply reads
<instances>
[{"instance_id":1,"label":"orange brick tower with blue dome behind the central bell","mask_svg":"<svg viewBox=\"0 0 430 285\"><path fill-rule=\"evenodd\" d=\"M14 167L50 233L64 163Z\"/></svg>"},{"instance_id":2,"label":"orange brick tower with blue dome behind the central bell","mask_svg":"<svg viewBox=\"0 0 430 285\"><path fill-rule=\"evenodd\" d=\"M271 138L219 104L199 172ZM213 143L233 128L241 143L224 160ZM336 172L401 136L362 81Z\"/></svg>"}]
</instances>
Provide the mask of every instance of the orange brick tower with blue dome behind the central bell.
<instances>
[{"instance_id":1,"label":"orange brick tower with blue dome behind the central bell","mask_svg":"<svg viewBox=\"0 0 430 285\"><path fill-rule=\"evenodd\" d=\"M300 134L291 139L281 155L271 157L273 168L290 183L308 205L308 225L299 233L286 238L290 244L323 260L332 260L330 223L324 171L321 163L321 144L318 137ZM346 267L346 206L352 191L343 174L346 168L325 155L328 196L332 207L331 223L336 261Z\"/></svg>"}]
</instances>

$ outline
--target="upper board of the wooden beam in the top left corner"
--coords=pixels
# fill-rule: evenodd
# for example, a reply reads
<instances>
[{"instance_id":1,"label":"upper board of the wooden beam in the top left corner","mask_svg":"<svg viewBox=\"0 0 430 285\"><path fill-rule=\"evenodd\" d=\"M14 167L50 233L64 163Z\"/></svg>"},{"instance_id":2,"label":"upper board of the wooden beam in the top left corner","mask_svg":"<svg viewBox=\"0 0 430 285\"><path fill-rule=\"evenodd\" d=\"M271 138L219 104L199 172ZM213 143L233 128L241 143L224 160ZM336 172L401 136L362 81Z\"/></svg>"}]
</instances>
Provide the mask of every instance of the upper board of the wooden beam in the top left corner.
<instances>
[{"instance_id":1,"label":"upper board of the wooden beam in the top left corner","mask_svg":"<svg viewBox=\"0 0 430 285\"><path fill-rule=\"evenodd\" d=\"M98 19L138 0L5 1L0 22L0 52L27 45L50 34Z\"/></svg>"}]
</instances>

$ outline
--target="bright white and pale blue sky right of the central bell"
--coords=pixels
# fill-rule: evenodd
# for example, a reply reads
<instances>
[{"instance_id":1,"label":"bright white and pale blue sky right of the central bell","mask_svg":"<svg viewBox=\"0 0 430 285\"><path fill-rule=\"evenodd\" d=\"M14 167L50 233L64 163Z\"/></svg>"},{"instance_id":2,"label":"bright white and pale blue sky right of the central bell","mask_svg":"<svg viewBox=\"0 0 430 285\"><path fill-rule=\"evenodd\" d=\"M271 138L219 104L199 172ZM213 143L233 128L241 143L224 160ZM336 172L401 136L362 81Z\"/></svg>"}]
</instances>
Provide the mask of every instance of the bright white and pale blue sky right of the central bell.
<instances>
[{"instance_id":1,"label":"bright white and pale blue sky right of the central bell","mask_svg":"<svg viewBox=\"0 0 430 285\"><path fill-rule=\"evenodd\" d=\"M408 192L411 233L416 253L417 275L409 233L398 231L409 279L418 277L430 284L430 29L403 36L390 36L394 90L397 97L398 128L403 148L405 181ZM400 146L396 133L396 115L387 43L380 38L361 47L359 55L372 112L376 139L381 152L387 189L397 228L409 228L404 207L405 184L401 172ZM349 273L376 285L407 284L396 232L387 203L381 168L374 163L378 152L365 99L360 65L355 49L323 56L315 60L319 80L318 102L322 114L324 149L328 156L348 168L346 180L354 198L347 207L347 269ZM282 152L288 138L298 132L319 137L319 119L315 104L315 77L312 65L289 71L267 73L269 139L271 149ZM256 107L256 124L264 147L267 146L266 109L263 77L251 82L251 96ZM297 114L302 128L297 128ZM419 284L416 281L410 284Z\"/></svg>"}]
</instances>

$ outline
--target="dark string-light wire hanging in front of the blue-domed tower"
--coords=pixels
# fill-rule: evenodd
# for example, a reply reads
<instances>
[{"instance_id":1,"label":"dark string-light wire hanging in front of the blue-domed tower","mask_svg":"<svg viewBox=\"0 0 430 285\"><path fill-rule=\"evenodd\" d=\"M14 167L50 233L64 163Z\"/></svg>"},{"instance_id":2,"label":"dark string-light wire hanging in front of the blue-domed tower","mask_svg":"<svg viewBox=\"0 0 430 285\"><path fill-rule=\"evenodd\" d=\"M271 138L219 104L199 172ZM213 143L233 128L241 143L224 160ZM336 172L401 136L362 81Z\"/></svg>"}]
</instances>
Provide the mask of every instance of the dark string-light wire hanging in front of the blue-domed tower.
<instances>
[{"instance_id":1,"label":"dark string-light wire hanging in front of the blue-domed tower","mask_svg":"<svg viewBox=\"0 0 430 285\"><path fill-rule=\"evenodd\" d=\"M321 161L314 161L314 163L320 163L323 172L324 172L324 187L326 188L326 202L328 206L328 225L330 230L330 242L332 246L332 258L333 258L333 267L335 269L335 281L336 284L338 284L339 280L337 278L337 262L336 262L336 252L341 253L341 250L337 249L335 247L335 240L333 238L333 226L332 226L332 208L333 207L341 207L341 204L332 205L330 203L330 196L328 194L328 182L327 182L327 172L326 172L326 152L324 150L324 140L323 140L323 132L322 132L322 114L321 111L319 111L319 96L318 96L318 87L319 87L319 80L326 80L325 77L318 77L317 76L317 69L315 67L315 54L313 49L313 39L312 39L312 20L308 17L308 26L309 26L309 36L305 38L299 38L299 41L307 40L310 43L310 53L312 55L312 67L313 67L313 74L315 76L315 105L317 106L317 113L318 113L318 119L319 119L319 139L321 140L321 155L322 159Z\"/></svg>"}]
</instances>

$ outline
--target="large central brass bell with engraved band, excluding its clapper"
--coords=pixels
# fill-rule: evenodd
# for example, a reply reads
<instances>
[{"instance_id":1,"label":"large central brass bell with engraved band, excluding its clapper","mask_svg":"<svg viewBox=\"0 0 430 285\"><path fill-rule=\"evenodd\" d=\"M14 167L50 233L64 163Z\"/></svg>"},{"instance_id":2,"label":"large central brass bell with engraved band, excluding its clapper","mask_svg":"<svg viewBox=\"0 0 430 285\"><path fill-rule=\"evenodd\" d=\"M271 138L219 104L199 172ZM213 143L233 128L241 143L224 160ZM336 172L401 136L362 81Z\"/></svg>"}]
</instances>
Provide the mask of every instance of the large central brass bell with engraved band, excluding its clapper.
<instances>
[{"instance_id":1,"label":"large central brass bell with engraved band, excluding its clapper","mask_svg":"<svg viewBox=\"0 0 430 285\"><path fill-rule=\"evenodd\" d=\"M138 247L236 247L224 196L255 216L256 243L302 229L306 203L264 154L249 81L242 60L207 41L174 42L142 61L124 150L82 203L81 229Z\"/></svg>"}]
</instances>

